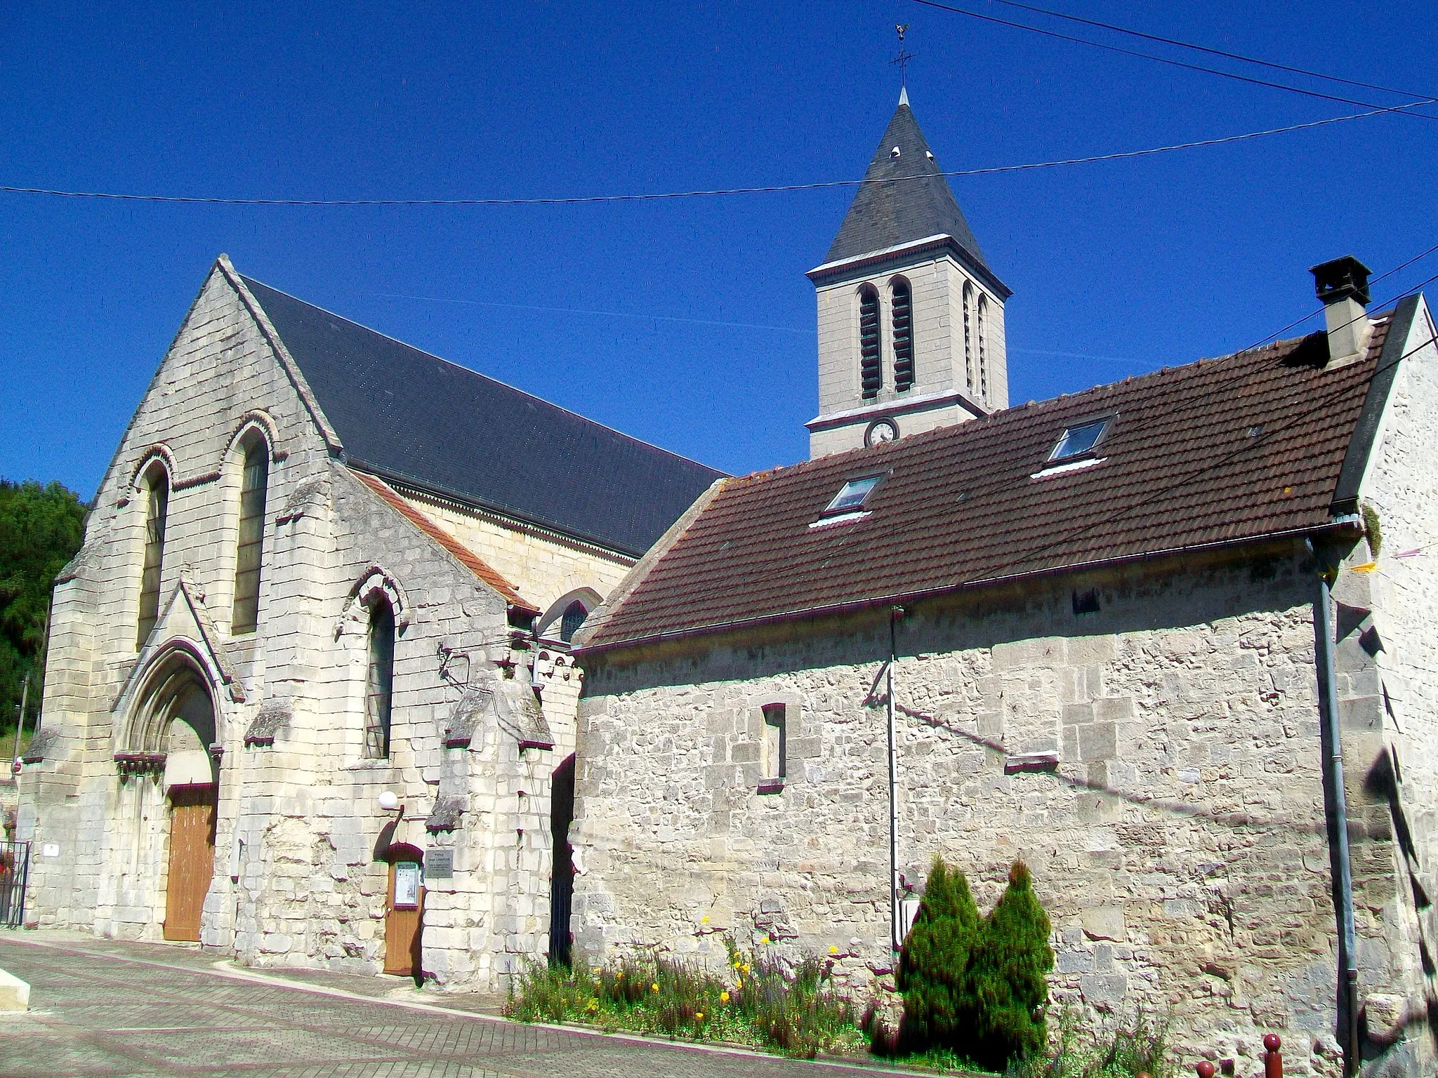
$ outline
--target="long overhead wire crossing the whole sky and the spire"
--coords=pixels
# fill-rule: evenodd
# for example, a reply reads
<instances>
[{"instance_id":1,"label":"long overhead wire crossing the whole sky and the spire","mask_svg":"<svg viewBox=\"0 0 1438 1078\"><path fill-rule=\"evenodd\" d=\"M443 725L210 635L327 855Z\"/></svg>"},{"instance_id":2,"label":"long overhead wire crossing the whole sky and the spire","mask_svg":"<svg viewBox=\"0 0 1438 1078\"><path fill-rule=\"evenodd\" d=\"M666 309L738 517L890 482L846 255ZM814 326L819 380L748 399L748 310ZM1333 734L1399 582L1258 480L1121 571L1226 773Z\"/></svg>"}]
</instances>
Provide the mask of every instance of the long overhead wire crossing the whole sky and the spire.
<instances>
[{"instance_id":1,"label":"long overhead wire crossing the whole sky and the spire","mask_svg":"<svg viewBox=\"0 0 1438 1078\"><path fill-rule=\"evenodd\" d=\"M1152 157L1153 154L1169 154L1178 149L1201 149L1204 147L1225 145L1229 142L1244 142L1252 138L1268 135L1286 135L1293 131L1307 131L1322 128L1329 124L1346 124L1352 119L1368 119L1391 112L1406 112L1408 109L1428 102L1409 102L1406 105L1389 105L1370 108L1366 112L1352 112L1345 116L1327 116L1324 119L1310 119L1304 124L1288 124L1281 128L1265 128L1263 131L1245 131L1241 135L1221 135L1218 138L1201 138L1194 142L1175 142L1146 149L1123 149L1113 154L1094 154L1090 157L1068 157L1055 161L1031 161L1020 165L992 165L988 168L965 168L948 172L938 172L942 177L975 177L997 175L1001 172L1027 172L1040 168L1060 168L1063 165L1087 165L1102 161L1123 161L1135 157ZM127 194L119 191L66 191L50 187L13 187L0 185L0 193L6 194L37 194L56 198L95 198L128 203L178 203L193 206L289 206L289 207L378 207L378 206L587 206L591 203L644 203L664 201L672 198L706 198L736 194L784 194L789 191L823 191L840 187L858 187L860 184L902 184L915 180L926 180L929 174L880 177L874 180L825 180L808 184L772 184L766 187L715 187L689 191L641 191L634 194L591 194L565 195L552 198L223 198L213 195L178 195L178 194Z\"/></svg>"}]
</instances>

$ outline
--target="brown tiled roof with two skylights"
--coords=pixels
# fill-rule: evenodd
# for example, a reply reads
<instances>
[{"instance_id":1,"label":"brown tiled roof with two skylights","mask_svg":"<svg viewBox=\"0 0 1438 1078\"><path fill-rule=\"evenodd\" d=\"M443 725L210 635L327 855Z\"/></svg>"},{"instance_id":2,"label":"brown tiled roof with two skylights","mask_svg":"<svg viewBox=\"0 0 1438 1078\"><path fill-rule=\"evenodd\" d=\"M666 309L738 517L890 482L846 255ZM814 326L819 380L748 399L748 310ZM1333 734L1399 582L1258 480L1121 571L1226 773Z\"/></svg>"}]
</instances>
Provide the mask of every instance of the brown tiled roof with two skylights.
<instances>
[{"instance_id":1,"label":"brown tiled roof with two skylights","mask_svg":"<svg viewBox=\"0 0 1438 1078\"><path fill-rule=\"evenodd\" d=\"M578 651L1332 525L1391 321L1334 369L1314 333L728 479L591 615ZM1102 463L1032 477L1066 427L1104 415ZM876 473L869 516L810 526Z\"/></svg>"}]
</instances>

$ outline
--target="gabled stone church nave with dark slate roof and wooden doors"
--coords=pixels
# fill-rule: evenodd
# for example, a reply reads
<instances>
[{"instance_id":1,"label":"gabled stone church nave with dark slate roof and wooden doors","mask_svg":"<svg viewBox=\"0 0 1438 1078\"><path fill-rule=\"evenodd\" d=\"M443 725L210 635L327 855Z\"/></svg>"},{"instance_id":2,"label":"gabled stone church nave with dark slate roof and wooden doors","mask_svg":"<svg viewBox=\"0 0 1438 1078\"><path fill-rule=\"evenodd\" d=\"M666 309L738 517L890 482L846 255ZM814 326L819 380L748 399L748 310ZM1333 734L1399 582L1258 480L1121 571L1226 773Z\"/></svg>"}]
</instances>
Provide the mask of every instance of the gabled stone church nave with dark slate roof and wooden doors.
<instances>
[{"instance_id":1,"label":"gabled stone church nave with dark slate roof and wooden doors","mask_svg":"<svg viewBox=\"0 0 1438 1078\"><path fill-rule=\"evenodd\" d=\"M716 476L221 256L56 584L32 917L475 989L562 950L568 638Z\"/></svg>"}]
</instances>

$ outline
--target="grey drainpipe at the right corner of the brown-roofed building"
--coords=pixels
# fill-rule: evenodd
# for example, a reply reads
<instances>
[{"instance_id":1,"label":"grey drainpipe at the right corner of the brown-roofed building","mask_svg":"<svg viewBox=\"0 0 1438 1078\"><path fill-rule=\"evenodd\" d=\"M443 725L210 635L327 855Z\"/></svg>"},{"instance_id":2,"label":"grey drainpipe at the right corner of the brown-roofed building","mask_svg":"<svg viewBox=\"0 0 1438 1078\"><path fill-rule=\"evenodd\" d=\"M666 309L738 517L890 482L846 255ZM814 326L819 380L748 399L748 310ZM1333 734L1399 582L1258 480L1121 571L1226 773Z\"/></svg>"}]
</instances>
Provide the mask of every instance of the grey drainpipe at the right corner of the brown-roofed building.
<instances>
[{"instance_id":1,"label":"grey drainpipe at the right corner of the brown-roofed building","mask_svg":"<svg viewBox=\"0 0 1438 1078\"><path fill-rule=\"evenodd\" d=\"M1313 540L1319 559L1319 595L1313 602L1314 660L1319 665L1319 729L1323 742L1323 799L1329 809L1329 857L1333 862L1339 914L1339 1016L1345 1025L1343 1074L1357 1074L1357 931L1353 927L1353 867L1347 841L1347 795L1343 789L1343 739L1339 723L1339 687L1333 668L1333 594L1337 566L1330 566ZM1345 1015L1343 1010L1347 1009Z\"/></svg>"}]
</instances>

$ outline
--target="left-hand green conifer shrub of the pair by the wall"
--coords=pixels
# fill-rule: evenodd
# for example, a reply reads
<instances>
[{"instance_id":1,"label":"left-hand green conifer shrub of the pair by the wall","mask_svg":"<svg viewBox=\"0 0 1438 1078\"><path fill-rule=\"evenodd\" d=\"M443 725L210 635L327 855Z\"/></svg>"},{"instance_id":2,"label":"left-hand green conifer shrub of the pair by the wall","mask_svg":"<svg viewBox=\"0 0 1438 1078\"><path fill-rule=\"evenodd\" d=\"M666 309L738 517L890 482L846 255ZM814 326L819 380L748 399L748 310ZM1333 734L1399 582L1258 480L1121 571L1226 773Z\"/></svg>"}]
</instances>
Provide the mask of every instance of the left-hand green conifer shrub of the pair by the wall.
<instances>
[{"instance_id":1,"label":"left-hand green conifer shrub of the pair by the wall","mask_svg":"<svg viewBox=\"0 0 1438 1078\"><path fill-rule=\"evenodd\" d=\"M965 979L978 930L969 881L935 857L919 916L899 952L896 986L903 993L905 1048L968 1054L974 1016L965 1002Z\"/></svg>"}]
</instances>

